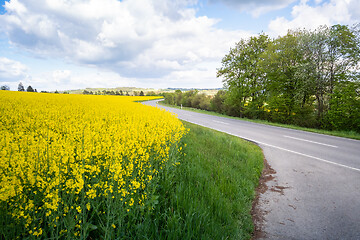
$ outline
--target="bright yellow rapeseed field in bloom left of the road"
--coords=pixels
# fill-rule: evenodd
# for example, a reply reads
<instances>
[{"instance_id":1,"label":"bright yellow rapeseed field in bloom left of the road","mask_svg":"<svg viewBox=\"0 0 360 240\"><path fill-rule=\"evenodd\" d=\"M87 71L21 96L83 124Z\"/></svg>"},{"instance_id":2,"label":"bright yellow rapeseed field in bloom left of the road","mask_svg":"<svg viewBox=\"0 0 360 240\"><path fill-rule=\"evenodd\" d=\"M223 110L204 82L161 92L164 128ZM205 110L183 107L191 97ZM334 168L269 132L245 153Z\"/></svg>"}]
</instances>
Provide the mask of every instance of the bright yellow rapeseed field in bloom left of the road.
<instances>
[{"instance_id":1,"label":"bright yellow rapeseed field in bloom left of the road","mask_svg":"<svg viewBox=\"0 0 360 240\"><path fill-rule=\"evenodd\" d=\"M150 98L0 91L0 238L111 238L133 209L151 208L186 130L134 102Z\"/></svg>"}]
</instances>

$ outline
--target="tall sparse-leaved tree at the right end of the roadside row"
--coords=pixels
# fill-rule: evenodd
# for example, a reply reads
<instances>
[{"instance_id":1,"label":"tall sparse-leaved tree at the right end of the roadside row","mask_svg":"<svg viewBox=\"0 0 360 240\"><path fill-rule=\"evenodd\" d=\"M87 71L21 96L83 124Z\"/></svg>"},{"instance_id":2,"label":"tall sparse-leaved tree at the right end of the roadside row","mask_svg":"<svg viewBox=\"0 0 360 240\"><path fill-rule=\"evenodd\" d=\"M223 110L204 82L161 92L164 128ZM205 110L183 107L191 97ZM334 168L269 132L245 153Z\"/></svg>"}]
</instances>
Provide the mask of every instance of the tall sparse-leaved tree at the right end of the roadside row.
<instances>
[{"instance_id":1,"label":"tall sparse-leaved tree at the right end of the roadside row","mask_svg":"<svg viewBox=\"0 0 360 240\"><path fill-rule=\"evenodd\" d=\"M316 98L319 124L330 110L334 88L352 78L359 63L359 35L356 26L321 26L309 34L306 61L303 68L309 89ZM320 126L320 125L319 125Z\"/></svg>"}]
</instances>

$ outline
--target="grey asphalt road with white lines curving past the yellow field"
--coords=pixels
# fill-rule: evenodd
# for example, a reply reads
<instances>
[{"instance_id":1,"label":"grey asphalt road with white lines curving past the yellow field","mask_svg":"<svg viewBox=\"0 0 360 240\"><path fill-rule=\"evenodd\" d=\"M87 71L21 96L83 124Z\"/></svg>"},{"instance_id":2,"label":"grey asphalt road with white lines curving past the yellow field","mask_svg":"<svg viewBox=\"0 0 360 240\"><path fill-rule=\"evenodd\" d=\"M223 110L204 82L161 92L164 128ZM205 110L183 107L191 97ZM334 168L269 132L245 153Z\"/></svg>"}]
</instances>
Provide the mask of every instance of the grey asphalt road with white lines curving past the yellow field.
<instances>
[{"instance_id":1,"label":"grey asphalt road with white lines curving past the yellow field","mask_svg":"<svg viewBox=\"0 0 360 240\"><path fill-rule=\"evenodd\" d=\"M360 141L157 106L263 149L276 171L259 198L264 239L360 239Z\"/></svg>"}]
</instances>

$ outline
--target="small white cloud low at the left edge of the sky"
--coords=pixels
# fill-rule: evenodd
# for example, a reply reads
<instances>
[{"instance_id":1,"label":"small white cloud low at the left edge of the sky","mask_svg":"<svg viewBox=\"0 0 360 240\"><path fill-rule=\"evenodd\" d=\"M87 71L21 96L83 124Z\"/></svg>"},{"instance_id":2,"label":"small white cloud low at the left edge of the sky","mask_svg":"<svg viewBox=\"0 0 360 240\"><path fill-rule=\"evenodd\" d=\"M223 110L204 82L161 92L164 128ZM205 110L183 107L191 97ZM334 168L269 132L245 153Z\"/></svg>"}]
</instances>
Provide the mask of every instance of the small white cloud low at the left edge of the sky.
<instances>
[{"instance_id":1,"label":"small white cloud low at the left edge of the sky","mask_svg":"<svg viewBox=\"0 0 360 240\"><path fill-rule=\"evenodd\" d=\"M15 82L29 78L28 67L5 57L0 57L0 82Z\"/></svg>"}]
</instances>

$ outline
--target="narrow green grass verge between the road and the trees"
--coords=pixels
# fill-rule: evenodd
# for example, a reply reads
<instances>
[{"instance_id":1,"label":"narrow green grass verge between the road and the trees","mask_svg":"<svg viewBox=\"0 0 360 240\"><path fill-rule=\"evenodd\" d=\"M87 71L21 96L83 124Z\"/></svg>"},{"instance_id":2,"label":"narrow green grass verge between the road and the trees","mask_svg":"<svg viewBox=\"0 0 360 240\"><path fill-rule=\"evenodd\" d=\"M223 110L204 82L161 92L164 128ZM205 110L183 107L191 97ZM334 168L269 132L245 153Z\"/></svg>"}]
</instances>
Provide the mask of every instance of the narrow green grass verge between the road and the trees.
<instances>
[{"instance_id":1,"label":"narrow green grass verge between the road and the trees","mask_svg":"<svg viewBox=\"0 0 360 240\"><path fill-rule=\"evenodd\" d=\"M179 106L174 106L174 105L166 104L166 103L163 103L163 102L158 102L158 104L163 105L163 106L168 106L168 107L173 107L173 108L180 109ZM226 117L226 118L231 118L231 119L238 119L238 120L254 122L254 123L260 123L260 124L266 124L266 125L271 125L271 126L276 126L276 127L290 128L290 129L302 130L302 131L307 131L307 132L314 132L314 133L319 133L319 134L331 135L331 136L336 136L336 137L344 137L344 138L351 138L351 139L360 140L360 133L357 133L357 132L354 132L354 131L330 131L330 130L323 130L323 129L316 129L316 128L305 128L305 127L299 127L299 126L296 126L296 125L269 122L269 121L266 121L266 120L232 117L232 116L228 116L228 115L217 113L217 112L206 111L206 110L190 108L190 107L183 107L182 109L187 110L187 111L192 111L192 112L204 113L204 114L208 114L208 115Z\"/></svg>"}]
</instances>

